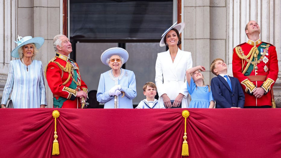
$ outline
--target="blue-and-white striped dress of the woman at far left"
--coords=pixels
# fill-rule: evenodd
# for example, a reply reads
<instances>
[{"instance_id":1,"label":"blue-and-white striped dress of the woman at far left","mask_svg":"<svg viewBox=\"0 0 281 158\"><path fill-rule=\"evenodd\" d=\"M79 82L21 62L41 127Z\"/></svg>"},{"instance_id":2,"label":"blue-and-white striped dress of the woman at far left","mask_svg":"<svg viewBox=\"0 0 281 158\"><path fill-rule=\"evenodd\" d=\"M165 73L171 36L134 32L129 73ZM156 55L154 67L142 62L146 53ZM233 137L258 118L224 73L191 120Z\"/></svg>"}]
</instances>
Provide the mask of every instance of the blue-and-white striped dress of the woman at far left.
<instances>
[{"instance_id":1,"label":"blue-and-white striped dress of the woman at far left","mask_svg":"<svg viewBox=\"0 0 281 158\"><path fill-rule=\"evenodd\" d=\"M33 60L25 66L20 59L10 62L1 104L6 104L12 91L14 108L39 108L47 105L42 62Z\"/></svg>"}]
</instances>

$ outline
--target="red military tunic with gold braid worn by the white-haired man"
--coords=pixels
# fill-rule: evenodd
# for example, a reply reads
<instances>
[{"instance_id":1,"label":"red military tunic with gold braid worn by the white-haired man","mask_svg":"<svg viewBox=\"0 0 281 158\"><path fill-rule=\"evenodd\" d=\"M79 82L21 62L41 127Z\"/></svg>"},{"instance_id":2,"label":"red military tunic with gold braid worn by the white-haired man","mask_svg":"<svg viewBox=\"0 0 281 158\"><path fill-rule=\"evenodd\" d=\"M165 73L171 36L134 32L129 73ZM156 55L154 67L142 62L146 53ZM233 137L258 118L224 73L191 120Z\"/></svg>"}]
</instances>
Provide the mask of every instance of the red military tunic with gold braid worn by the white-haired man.
<instances>
[{"instance_id":1,"label":"red military tunic with gold braid worn by the white-haired man","mask_svg":"<svg viewBox=\"0 0 281 158\"><path fill-rule=\"evenodd\" d=\"M81 80L79 67L67 56L56 53L45 69L45 77L53 93L54 107L80 108L77 91L88 93L87 85Z\"/></svg>"}]
</instances>

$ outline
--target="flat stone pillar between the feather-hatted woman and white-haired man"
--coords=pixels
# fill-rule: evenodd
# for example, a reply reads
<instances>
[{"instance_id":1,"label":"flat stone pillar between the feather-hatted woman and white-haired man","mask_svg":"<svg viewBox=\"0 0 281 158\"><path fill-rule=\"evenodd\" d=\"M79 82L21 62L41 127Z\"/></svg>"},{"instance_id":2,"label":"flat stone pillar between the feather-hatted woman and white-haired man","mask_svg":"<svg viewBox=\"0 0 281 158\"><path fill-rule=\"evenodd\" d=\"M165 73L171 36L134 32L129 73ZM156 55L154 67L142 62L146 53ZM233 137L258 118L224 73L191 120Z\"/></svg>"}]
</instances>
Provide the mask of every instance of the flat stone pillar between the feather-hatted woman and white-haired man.
<instances>
[{"instance_id":1,"label":"flat stone pillar between the feather-hatted woman and white-haired man","mask_svg":"<svg viewBox=\"0 0 281 158\"><path fill-rule=\"evenodd\" d=\"M37 60L42 61L43 71L46 65L55 56L53 49L53 38L60 34L60 1L56 0L34 0L33 8L33 31L34 36L41 36L45 39L40 53L36 56ZM53 95L45 79L48 107L53 106Z\"/></svg>"}]
</instances>

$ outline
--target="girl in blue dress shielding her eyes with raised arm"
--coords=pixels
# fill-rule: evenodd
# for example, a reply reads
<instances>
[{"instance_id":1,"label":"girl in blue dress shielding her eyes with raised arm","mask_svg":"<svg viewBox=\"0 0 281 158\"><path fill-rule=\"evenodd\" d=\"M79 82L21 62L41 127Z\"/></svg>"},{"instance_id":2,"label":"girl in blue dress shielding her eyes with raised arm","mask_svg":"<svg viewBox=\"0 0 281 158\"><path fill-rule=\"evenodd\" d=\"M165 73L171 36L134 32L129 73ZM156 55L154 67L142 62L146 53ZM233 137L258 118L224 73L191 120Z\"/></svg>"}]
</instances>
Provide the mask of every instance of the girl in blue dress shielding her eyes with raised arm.
<instances>
[{"instance_id":1,"label":"girl in blue dress shielding her eyes with raised arm","mask_svg":"<svg viewBox=\"0 0 281 158\"><path fill-rule=\"evenodd\" d=\"M204 84L201 71L205 71L205 67L200 65L186 70L187 90L191 95L188 108L214 108L215 106L211 88Z\"/></svg>"}]
</instances>

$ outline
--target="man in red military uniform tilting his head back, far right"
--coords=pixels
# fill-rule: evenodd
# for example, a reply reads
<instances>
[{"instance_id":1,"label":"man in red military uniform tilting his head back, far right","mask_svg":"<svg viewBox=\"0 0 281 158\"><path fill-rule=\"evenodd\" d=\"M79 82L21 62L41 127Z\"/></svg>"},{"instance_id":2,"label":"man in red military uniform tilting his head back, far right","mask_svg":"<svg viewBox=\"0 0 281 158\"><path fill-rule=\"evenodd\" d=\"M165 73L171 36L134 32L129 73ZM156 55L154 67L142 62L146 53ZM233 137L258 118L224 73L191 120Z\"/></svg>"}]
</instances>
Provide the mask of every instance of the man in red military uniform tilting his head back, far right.
<instances>
[{"instance_id":1,"label":"man in red military uniform tilting his head back, far right","mask_svg":"<svg viewBox=\"0 0 281 158\"><path fill-rule=\"evenodd\" d=\"M260 26L250 21L245 27L248 42L233 49L232 71L245 94L244 108L275 107L273 84L278 76L275 46L260 41Z\"/></svg>"}]
</instances>

